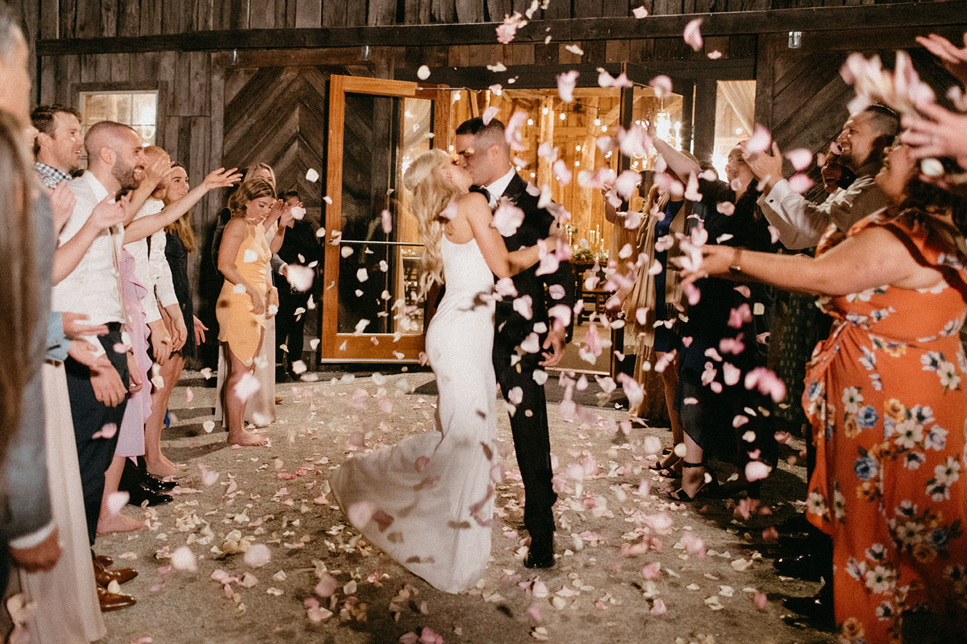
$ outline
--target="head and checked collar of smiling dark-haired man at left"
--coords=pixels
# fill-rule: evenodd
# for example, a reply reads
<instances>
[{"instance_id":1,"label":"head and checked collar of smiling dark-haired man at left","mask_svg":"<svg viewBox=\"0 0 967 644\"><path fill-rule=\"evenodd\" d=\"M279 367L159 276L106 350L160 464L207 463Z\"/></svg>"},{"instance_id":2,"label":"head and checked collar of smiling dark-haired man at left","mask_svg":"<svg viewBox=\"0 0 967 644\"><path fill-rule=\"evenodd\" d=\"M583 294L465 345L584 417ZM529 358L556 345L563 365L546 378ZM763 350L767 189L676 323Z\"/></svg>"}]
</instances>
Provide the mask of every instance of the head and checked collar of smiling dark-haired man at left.
<instances>
[{"instance_id":1,"label":"head and checked collar of smiling dark-haired man at left","mask_svg":"<svg viewBox=\"0 0 967 644\"><path fill-rule=\"evenodd\" d=\"M34 142L34 169L48 188L70 181L71 173L80 164L80 150L84 134L80 129L80 115L73 107L38 105L30 113L37 128Z\"/></svg>"}]
</instances>

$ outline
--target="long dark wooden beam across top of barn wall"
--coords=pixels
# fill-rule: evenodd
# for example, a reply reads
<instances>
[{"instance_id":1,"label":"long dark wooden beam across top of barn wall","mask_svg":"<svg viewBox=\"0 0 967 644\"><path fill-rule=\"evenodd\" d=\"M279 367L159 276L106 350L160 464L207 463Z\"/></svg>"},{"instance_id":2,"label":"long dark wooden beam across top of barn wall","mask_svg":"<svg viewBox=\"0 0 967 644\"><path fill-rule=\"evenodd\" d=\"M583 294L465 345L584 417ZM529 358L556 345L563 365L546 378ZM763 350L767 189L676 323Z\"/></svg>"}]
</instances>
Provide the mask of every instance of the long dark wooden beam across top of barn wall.
<instances>
[{"instance_id":1,"label":"long dark wooden beam across top of barn wall","mask_svg":"<svg viewBox=\"0 0 967 644\"><path fill-rule=\"evenodd\" d=\"M705 36L766 34L789 31L823 32L965 24L963 6L957 2L856 7L803 7L717 14L655 15L633 17L537 20L517 31L514 42L609 41L624 39L681 38L685 25L703 18ZM43 40L42 56L59 54L119 53L132 51L284 49L292 47L492 44L495 23L329 27L319 29L248 29L189 34L139 36L136 38L89 38Z\"/></svg>"}]
</instances>

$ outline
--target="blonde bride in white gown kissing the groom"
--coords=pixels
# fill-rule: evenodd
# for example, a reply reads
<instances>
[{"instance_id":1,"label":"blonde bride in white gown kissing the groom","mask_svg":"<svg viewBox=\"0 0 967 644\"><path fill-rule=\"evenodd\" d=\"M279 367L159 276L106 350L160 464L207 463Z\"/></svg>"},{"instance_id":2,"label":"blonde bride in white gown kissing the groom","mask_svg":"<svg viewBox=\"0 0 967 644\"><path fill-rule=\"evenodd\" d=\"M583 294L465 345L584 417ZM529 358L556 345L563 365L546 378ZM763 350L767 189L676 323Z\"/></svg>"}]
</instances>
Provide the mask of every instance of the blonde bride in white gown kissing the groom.
<instances>
[{"instance_id":1,"label":"blonde bride in white gown kissing the groom","mask_svg":"<svg viewBox=\"0 0 967 644\"><path fill-rule=\"evenodd\" d=\"M436 375L436 431L342 463L330 478L339 506L375 546L448 593L470 588L490 556L497 462L493 276L539 261L508 252L486 198L440 150L421 154L404 184L425 242L425 287L446 282L426 331Z\"/></svg>"}]
</instances>

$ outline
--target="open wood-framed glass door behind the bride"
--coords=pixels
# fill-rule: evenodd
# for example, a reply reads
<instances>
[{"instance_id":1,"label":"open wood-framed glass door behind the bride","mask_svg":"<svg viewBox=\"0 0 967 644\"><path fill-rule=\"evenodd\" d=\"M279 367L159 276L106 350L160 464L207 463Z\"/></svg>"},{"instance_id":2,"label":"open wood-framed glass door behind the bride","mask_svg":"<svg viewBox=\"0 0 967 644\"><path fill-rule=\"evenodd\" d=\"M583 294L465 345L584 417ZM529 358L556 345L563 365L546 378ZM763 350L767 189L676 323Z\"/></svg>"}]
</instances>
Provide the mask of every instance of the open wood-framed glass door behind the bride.
<instances>
[{"instance_id":1,"label":"open wood-framed glass door behind the bride","mask_svg":"<svg viewBox=\"0 0 967 644\"><path fill-rule=\"evenodd\" d=\"M446 150L449 95L416 83L334 75L326 169L323 362L418 360L423 244L402 176Z\"/></svg>"}]
</instances>

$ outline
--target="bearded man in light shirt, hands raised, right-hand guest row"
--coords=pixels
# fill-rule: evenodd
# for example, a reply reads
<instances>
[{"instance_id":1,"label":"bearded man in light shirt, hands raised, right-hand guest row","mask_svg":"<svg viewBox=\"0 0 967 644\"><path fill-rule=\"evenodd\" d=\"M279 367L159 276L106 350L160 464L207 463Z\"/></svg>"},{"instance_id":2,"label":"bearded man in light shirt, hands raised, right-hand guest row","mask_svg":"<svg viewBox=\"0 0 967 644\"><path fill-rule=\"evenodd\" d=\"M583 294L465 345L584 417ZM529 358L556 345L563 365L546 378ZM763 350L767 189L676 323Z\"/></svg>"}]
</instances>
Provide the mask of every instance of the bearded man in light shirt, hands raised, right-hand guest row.
<instances>
[{"instance_id":1,"label":"bearded man in light shirt, hands raised, right-hand guest row","mask_svg":"<svg viewBox=\"0 0 967 644\"><path fill-rule=\"evenodd\" d=\"M746 162L755 176L766 183L758 205L789 249L815 246L830 224L846 233L867 214L887 205L886 195L873 177L883 163L883 149L900 131L899 117L884 105L870 105L846 120L836 137L840 163L856 174L848 187L837 190L822 204L813 204L782 179L782 156L773 144L773 154L747 154Z\"/></svg>"}]
</instances>

